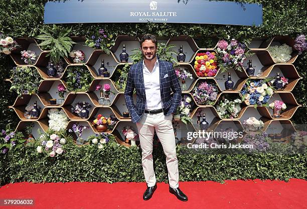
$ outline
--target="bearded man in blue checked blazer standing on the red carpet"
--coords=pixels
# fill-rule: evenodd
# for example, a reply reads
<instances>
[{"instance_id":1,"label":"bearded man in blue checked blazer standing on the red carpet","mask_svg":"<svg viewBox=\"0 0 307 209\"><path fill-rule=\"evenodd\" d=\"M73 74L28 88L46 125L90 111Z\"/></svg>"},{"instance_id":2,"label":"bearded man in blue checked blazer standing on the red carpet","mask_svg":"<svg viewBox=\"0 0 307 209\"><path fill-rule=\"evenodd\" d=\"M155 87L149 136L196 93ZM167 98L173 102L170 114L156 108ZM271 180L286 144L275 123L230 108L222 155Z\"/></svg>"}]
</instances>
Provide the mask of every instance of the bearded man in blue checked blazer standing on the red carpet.
<instances>
[{"instance_id":1,"label":"bearded man in blue checked blazer standing on the red carpet","mask_svg":"<svg viewBox=\"0 0 307 209\"><path fill-rule=\"evenodd\" d=\"M157 47L155 36L146 34L141 38L143 60L130 67L124 93L131 120L137 126L142 149L142 166L147 183L143 199L150 199L157 188L152 159L152 139L156 130L166 155L169 190L178 199L187 201L188 197L179 189L178 160L172 125L173 114L181 100L181 88L172 63L157 58ZM136 106L132 99L134 88Z\"/></svg>"}]
</instances>

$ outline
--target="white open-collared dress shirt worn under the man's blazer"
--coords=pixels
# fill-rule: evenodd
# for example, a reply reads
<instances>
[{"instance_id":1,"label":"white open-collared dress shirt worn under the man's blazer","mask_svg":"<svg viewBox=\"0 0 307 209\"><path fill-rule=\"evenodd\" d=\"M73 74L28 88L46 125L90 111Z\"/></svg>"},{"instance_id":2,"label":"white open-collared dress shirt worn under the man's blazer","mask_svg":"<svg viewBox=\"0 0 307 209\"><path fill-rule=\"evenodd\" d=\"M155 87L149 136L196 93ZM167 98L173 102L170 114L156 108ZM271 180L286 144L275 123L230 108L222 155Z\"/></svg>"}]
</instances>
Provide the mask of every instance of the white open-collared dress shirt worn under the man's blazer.
<instances>
[{"instance_id":1,"label":"white open-collared dress shirt worn under the man's blazer","mask_svg":"<svg viewBox=\"0 0 307 209\"><path fill-rule=\"evenodd\" d=\"M145 110L163 109L164 105L160 92L160 69L158 59L150 72L143 60L143 76L146 94Z\"/></svg>"}]
</instances>

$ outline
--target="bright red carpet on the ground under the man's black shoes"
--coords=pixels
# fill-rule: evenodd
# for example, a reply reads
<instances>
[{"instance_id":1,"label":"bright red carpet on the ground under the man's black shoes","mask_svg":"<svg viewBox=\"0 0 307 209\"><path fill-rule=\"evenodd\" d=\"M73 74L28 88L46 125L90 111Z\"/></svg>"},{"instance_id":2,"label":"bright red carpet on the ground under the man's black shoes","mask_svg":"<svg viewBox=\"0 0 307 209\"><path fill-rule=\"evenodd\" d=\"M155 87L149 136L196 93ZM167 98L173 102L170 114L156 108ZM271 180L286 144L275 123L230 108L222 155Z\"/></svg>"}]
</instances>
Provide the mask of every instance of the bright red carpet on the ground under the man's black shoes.
<instances>
[{"instance_id":1,"label":"bright red carpet on the ground under the man's black shoes","mask_svg":"<svg viewBox=\"0 0 307 209\"><path fill-rule=\"evenodd\" d=\"M180 182L189 201L182 202L169 193L168 184L158 183L151 199L144 201L145 183L14 183L0 188L0 199L32 198L34 206L0 208L307 208L307 181L227 180Z\"/></svg>"}]
</instances>

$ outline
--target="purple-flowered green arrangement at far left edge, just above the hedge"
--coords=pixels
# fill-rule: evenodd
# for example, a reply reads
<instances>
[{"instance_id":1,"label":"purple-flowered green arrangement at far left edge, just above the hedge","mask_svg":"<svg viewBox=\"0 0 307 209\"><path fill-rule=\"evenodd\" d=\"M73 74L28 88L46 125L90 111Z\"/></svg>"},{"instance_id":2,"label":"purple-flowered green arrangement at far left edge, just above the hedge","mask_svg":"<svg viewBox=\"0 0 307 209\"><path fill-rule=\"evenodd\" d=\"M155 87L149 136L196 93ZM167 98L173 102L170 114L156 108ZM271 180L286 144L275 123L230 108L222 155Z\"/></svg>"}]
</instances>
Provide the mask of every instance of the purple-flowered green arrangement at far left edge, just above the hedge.
<instances>
[{"instance_id":1,"label":"purple-flowered green arrangement at far left edge, just above the hedge","mask_svg":"<svg viewBox=\"0 0 307 209\"><path fill-rule=\"evenodd\" d=\"M14 132L10 125L0 133L0 153L6 154L11 149L20 148L26 142L22 132Z\"/></svg>"}]
</instances>

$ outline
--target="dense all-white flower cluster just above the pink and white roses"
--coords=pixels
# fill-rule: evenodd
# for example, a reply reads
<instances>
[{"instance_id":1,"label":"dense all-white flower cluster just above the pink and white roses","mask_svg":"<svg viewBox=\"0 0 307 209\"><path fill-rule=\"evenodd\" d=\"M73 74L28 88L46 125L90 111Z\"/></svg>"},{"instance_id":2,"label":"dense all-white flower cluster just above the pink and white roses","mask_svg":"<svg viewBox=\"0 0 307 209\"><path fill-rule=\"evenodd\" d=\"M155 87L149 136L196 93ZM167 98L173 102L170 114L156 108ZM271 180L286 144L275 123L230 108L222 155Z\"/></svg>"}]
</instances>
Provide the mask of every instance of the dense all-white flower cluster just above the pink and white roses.
<instances>
[{"instance_id":1,"label":"dense all-white flower cluster just above the pink and white roses","mask_svg":"<svg viewBox=\"0 0 307 209\"><path fill-rule=\"evenodd\" d=\"M66 129L68 125L68 117L65 112L61 109L52 108L48 111L49 118L49 128L54 131L60 131L61 129Z\"/></svg>"}]
</instances>

